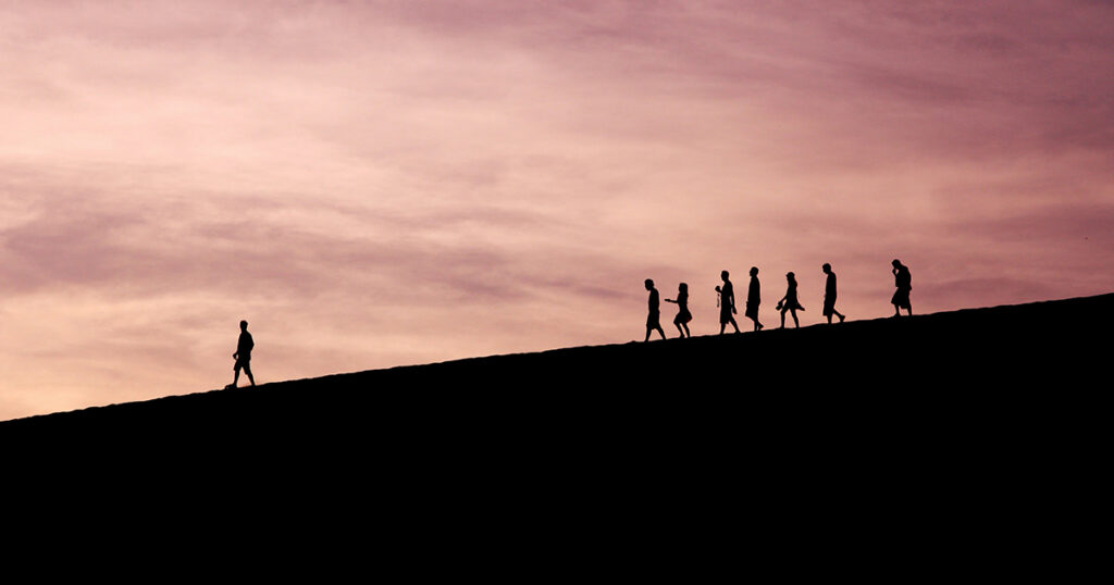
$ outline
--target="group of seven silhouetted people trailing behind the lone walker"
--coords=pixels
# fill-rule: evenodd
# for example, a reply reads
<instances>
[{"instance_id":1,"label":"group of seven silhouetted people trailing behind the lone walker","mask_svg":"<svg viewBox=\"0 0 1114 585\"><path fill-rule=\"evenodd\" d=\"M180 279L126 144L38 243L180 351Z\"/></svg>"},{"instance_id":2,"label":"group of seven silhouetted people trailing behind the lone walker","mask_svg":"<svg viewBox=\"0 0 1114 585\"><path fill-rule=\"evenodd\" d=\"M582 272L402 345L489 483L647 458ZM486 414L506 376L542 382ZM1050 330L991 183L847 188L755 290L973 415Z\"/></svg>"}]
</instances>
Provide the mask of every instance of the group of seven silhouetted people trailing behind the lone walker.
<instances>
[{"instance_id":1,"label":"group of seven silhouetted people trailing behind the lone walker","mask_svg":"<svg viewBox=\"0 0 1114 585\"><path fill-rule=\"evenodd\" d=\"M912 304L909 301L909 291L912 290L912 275L909 273L909 267L902 264L900 260L895 260L891 265L893 267L893 284L897 286L893 298L890 299L890 303L893 305L893 316L900 316L902 309L911 315ZM821 270L827 274L822 314L828 319L829 324L831 324L833 316L838 318L839 322L842 323L847 319L847 315L836 310L836 273L832 272L832 265L828 263L824 263ZM716 305L720 308L721 335L726 331L729 324L735 329L735 333L740 332L739 323L735 322L735 315L739 314L739 310L735 309L735 287L731 283L730 276L731 274L727 271L721 272L720 277L723 280L723 285L715 287ZM781 313L781 329L785 328L785 313L789 313L793 318L793 326L799 328L801 326L801 322L797 319L797 312L804 311L804 306L801 305L797 298L797 275L792 272L786 273L785 281L788 282L785 295L778 301L775 310ZM665 339L665 331L662 329L659 295L657 289L654 287L653 280L646 279L646 290L649 291L649 315L646 318L645 341L649 341L649 335L654 331L657 331L662 335L662 339ZM688 310L688 285L682 282L677 286L677 298L666 299L665 302L677 305L677 316L673 318L673 324L676 325L677 332L682 338L691 338L692 332L688 330L688 322L693 320L693 314ZM765 328L759 321L759 304L761 302L762 293L761 285L759 284L759 269L751 266L751 282L746 287L746 309L743 315L754 323L754 331L761 331Z\"/></svg>"}]
</instances>

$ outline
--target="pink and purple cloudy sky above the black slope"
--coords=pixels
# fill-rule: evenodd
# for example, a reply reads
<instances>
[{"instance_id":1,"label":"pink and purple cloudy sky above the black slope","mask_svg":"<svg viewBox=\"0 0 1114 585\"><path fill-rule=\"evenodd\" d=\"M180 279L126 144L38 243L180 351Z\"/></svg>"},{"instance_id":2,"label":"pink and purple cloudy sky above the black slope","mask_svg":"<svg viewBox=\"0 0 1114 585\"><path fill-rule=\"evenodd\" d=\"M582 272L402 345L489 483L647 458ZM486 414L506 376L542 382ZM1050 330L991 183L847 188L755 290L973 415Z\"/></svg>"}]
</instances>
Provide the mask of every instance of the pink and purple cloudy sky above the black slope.
<instances>
[{"instance_id":1,"label":"pink and purple cloudy sky above the black slope","mask_svg":"<svg viewBox=\"0 0 1114 585\"><path fill-rule=\"evenodd\" d=\"M641 340L646 277L711 333L751 265L766 324L824 262L1111 292L1112 71L1108 1L0 0L0 419L219 388L241 319L266 382Z\"/></svg>"}]
</instances>

